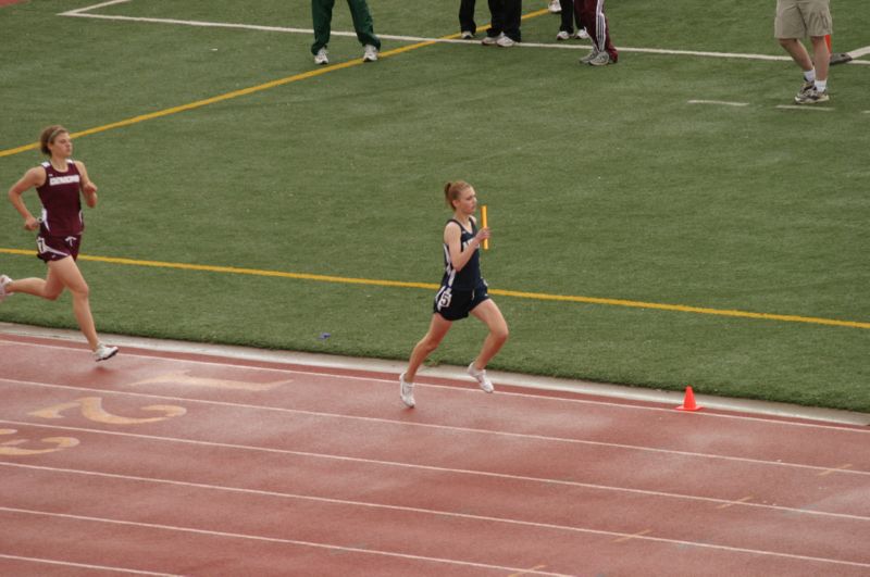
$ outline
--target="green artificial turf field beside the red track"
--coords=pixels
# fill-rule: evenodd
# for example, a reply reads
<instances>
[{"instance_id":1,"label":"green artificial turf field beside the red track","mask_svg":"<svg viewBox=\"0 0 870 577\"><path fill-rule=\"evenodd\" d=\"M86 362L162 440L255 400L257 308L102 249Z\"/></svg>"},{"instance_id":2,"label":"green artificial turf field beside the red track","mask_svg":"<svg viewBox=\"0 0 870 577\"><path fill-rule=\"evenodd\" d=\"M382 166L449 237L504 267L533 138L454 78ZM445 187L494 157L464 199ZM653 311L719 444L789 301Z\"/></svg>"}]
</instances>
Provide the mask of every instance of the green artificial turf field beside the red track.
<instances>
[{"instance_id":1,"label":"green artificial turf field beside the red track","mask_svg":"<svg viewBox=\"0 0 870 577\"><path fill-rule=\"evenodd\" d=\"M868 42L862 1L834 5L835 50ZM496 296L511 338L494 368L870 412L870 66L832 68L830 111L791 110L778 108L800 85L791 62L629 50L781 57L767 4L613 2L623 51L605 68L556 46L390 54L414 42L384 40L377 63L300 77L314 70L307 34L64 17L88 2L23 2L0 8L0 154L51 123L104 127L296 78L77 138L101 203L86 214L83 254L434 284L442 188L461 178L489 206L483 271L496 291L862 324ZM95 13L311 27L303 2L237 7L133 0ZM458 32L458 2L370 7L382 35ZM352 29L343 2L334 29ZM538 15L523 39L556 45L557 30L558 17ZM334 36L330 53L337 64L361 47ZM40 160L0 156L4 186ZM0 249L33 248L11 205L0 222ZM388 359L423 335L434 293L79 264L103 331ZM0 272L45 268L0 252ZM0 321L75 326L69 297L16 296ZM465 364L483 337L459 323L431 362Z\"/></svg>"}]
</instances>

